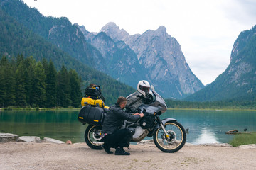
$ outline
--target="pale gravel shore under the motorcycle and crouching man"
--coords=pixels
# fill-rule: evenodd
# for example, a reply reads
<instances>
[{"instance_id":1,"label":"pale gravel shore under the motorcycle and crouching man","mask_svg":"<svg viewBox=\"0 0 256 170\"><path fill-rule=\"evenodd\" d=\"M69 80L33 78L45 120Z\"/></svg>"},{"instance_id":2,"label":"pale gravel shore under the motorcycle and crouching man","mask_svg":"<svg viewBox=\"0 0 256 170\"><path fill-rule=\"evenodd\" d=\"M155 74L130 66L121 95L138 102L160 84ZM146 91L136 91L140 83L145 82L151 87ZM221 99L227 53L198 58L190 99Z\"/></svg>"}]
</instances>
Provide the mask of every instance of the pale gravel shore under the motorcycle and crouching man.
<instances>
[{"instance_id":1,"label":"pale gravel shore under the motorcycle and crouching man","mask_svg":"<svg viewBox=\"0 0 256 170\"><path fill-rule=\"evenodd\" d=\"M66 145L0 143L0 169L255 169L256 148L188 145L176 153L154 144L130 145L129 156L93 150L85 142Z\"/></svg>"}]
</instances>

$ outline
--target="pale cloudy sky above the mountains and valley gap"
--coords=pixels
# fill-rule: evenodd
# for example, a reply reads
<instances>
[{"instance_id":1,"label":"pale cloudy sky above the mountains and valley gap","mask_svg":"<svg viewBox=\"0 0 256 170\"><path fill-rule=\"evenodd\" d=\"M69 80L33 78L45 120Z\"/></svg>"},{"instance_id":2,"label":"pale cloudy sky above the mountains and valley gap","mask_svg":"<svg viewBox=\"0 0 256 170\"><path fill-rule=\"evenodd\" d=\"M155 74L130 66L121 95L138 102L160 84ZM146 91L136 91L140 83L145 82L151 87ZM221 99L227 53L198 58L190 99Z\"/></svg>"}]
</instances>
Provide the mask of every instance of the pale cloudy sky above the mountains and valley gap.
<instances>
[{"instance_id":1,"label":"pale cloudy sky above the mountains and valley gap","mask_svg":"<svg viewBox=\"0 0 256 170\"><path fill-rule=\"evenodd\" d=\"M90 32L114 22L130 35L165 26L203 84L230 63L233 43L256 25L255 0L23 0L44 16L67 17Z\"/></svg>"}]
</instances>

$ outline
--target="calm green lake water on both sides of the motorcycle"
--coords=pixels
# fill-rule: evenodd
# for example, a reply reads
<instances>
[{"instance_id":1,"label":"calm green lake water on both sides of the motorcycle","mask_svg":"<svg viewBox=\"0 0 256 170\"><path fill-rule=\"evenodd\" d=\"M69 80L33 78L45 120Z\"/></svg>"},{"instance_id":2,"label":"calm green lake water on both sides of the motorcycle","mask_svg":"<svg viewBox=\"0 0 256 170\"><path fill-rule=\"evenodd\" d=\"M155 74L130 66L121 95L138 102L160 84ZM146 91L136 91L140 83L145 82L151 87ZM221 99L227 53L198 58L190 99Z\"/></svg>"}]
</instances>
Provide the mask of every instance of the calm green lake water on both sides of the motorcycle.
<instances>
[{"instance_id":1,"label":"calm green lake water on both sides of the motorcycle","mask_svg":"<svg viewBox=\"0 0 256 170\"><path fill-rule=\"evenodd\" d=\"M225 143L233 139L228 130L256 131L256 111L166 111L161 118L176 118L186 129L187 142ZM51 137L84 142L85 125L78 111L0 111L0 132L20 136Z\"/></svg>"}]
</instances>

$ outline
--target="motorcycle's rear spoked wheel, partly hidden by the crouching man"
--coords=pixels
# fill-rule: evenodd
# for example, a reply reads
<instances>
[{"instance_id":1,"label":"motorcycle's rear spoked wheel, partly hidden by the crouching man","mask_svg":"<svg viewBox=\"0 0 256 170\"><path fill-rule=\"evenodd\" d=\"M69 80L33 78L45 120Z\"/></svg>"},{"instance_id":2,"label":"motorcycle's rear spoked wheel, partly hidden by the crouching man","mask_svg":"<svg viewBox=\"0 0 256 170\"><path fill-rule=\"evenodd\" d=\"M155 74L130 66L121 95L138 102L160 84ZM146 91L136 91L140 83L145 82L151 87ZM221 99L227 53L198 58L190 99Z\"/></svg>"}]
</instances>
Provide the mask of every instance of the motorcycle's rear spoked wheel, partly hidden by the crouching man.
<instances>
[{"instance_id":1,"label":"motorcycle's rear spoked wheel, partly hidden by the crouching man","mask_svg":"<svg viewBox=\"0 0 256 170\"><path fill-rule=\"evenodd\" d=\"M85 142L92 149L102 149L101 137L102 125L88 125L85 130Z\"/></svg>"}]
</instances>

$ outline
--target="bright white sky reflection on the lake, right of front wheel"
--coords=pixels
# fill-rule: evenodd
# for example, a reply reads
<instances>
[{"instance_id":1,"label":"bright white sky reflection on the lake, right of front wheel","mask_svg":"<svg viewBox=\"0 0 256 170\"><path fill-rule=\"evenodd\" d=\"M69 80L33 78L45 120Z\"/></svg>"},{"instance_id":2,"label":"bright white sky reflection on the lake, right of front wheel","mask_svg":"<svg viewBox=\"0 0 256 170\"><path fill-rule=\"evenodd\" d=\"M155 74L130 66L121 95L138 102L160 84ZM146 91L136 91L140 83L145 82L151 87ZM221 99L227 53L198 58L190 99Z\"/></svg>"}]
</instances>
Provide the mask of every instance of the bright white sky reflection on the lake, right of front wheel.
<instances>
[{"instance_id":1,"label":"bright white sky reflection on the lake, right of front wheel","mask_svg":"<svg viewBox=\"0 0 256 170\"><path fill-rule=\"evenodd\" d=\"M215 133L205 129L205 130L202 130L199 137L197 137L191 143L195 145L206 144L206 143L218 143L218 140L217 140L217 137L215 137Z\"/></svg>"}]
</instances>

